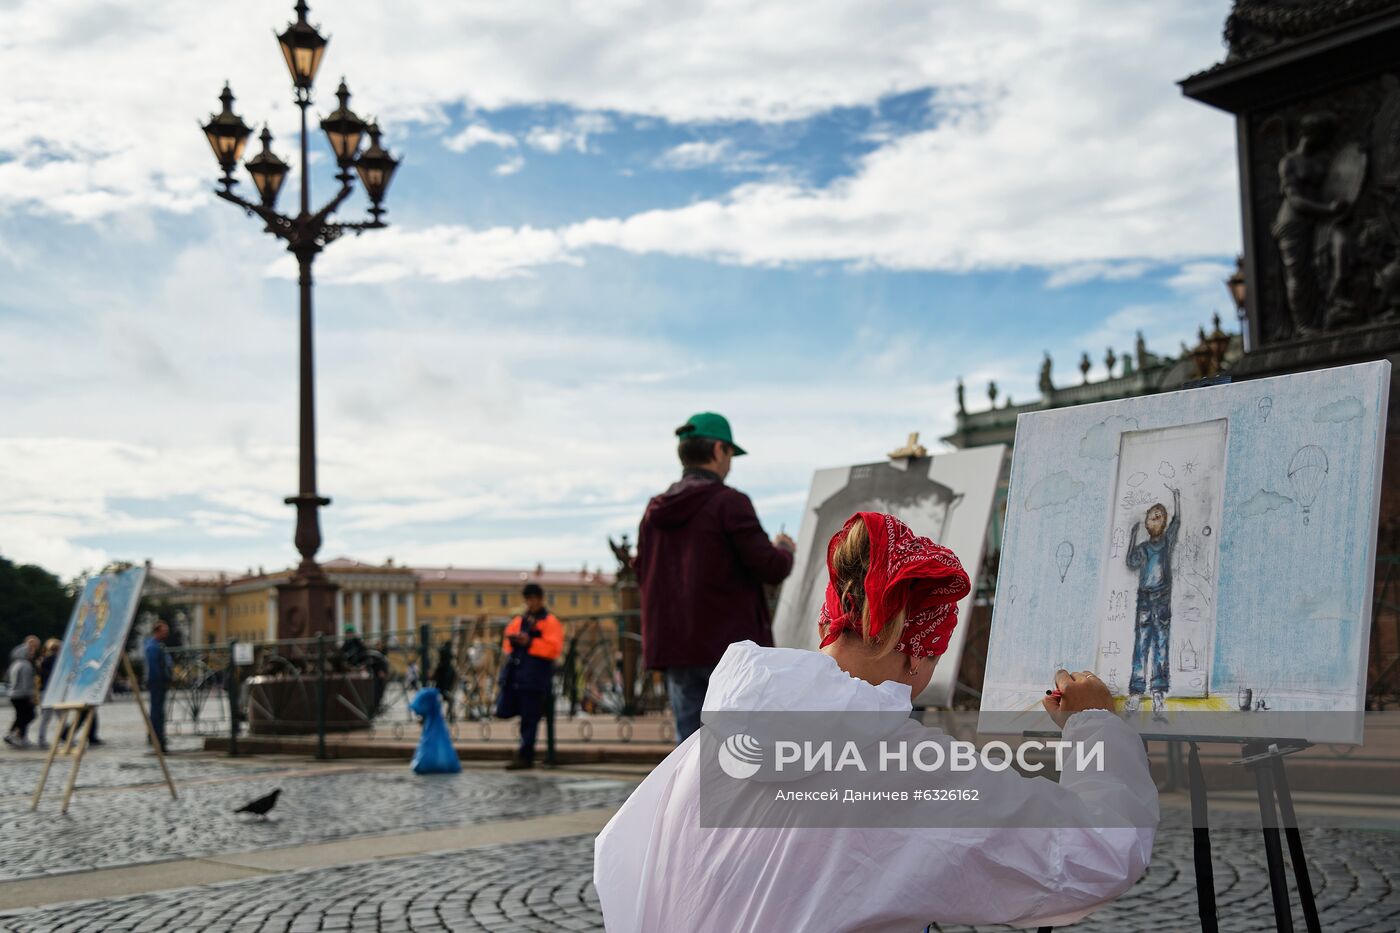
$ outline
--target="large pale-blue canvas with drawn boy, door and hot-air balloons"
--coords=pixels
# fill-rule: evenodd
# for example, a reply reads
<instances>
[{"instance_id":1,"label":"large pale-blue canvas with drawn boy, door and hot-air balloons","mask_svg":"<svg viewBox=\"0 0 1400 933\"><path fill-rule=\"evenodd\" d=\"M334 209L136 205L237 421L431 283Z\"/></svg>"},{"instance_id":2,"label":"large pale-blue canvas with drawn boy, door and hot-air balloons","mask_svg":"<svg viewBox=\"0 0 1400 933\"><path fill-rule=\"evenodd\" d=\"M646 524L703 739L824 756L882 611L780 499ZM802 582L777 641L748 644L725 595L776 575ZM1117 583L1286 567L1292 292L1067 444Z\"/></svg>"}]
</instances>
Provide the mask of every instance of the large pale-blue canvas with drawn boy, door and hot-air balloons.
<instances>
[{"instance_id":1,"label":"large pale-blue canvas with drawn boy, door and hot-air balloons","mask_svg":"<svg viewBox=\"0 0 1400 933\"><path fill-rule=\"evenodd\" d=\"M1144 735L1357 744L1390 364L1022 415L979 728L1056 668Z\"/></svg>"}]
</instances>

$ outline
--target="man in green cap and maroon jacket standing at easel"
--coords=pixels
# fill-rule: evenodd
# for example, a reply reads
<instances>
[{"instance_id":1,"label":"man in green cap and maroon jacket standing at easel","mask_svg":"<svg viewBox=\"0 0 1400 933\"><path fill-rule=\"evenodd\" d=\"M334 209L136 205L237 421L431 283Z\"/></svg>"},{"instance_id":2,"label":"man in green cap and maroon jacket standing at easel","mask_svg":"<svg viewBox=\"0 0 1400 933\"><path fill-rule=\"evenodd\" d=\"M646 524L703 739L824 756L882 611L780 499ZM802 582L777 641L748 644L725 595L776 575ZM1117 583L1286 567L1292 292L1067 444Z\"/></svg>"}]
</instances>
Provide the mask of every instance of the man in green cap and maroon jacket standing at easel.
<instances>
[{"instance_id":1,"label":"man in green cap and maroon jacket standing at easel","mask_svg":"<svg viewBox=\"0 0 1400 933\"><path fill-rule=\"evenodd\" d=\"M769 539L753 503L725 485L735 457L729 422L700 412L676 429L680 479L647 503L637 532L641 651L666 672L676 741L700 728L710 672L734 642L773 646L764 584L792 572L792 539Z\"/></svg>"}]
</instances>

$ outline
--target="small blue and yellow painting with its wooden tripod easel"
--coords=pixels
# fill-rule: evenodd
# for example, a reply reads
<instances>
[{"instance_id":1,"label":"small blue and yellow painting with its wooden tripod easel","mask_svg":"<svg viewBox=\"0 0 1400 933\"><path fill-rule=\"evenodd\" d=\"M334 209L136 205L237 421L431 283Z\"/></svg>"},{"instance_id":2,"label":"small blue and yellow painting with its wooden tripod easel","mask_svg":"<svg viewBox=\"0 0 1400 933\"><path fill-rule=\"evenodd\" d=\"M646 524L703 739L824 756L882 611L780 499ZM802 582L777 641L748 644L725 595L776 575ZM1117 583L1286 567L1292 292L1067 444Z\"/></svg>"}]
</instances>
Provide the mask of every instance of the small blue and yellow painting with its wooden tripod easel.
<instances>
[{"instance_id":1,"label":"small blue and yellow painting with its wooden tripod easel","mask_svg":"<svg viewBox=\"0 0 1400 933\"><path fill-rule=\"evenodd\" d=\"M151 728L146 703L141 700L132 661L126 657L126 639L132 632L132 622L136 619L144 584L146 569L129 567L101 573L83 587L83 593L73 607L69 628L63 633L63 647L59 650L53 674L43 685L41 700L45 709L59 712L59 734L64 738L55 741L49 748L39 776L39 786L34 792L31 810L39 806L43 787L49 780L49 770L53 768L53 759L63 754L73 755L73 766L69 770L63 793L62 811L67 813L73 789L77 785L78 768L81 768L83 755L87 752L92 717L112 689L112 678L116 675L118 665L125 668L133 686L136 705L146 721L146 733L155 749L161 773L165 776L171 796L175 796L175 782L165 765L160 742L155 741L155 731Z\"/></svg>"}]
</instances>

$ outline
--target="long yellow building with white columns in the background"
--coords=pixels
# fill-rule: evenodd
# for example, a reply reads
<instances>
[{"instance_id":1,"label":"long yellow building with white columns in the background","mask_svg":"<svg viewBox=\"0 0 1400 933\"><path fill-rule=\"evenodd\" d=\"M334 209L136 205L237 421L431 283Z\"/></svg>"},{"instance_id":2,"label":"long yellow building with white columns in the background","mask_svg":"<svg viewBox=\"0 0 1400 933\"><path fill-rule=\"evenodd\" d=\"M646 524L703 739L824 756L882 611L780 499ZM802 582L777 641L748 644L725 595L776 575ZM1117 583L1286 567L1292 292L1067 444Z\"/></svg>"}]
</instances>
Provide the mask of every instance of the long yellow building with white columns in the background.
<instances>
[{"instance_id":1,"label":"long yellow building with white columns in the background","mask_svg":"<svg viewBox=\"0 0 1400 933\"><path fill-rule=\"evenodd\" d=\"M451 628L479 619L507 618L525 604L521 588L538 583L560 619L617 609L613 576L601 570L476 567L403 567L339 558L322 565L340 587L336 635L354 629L367 642L395 643L420 625ZM266 642L277 633L277 584L291 570L230 574L147 565L146 595L181 607L186 644L221 644L230 639Z\"/></svg>"}]
</instances>

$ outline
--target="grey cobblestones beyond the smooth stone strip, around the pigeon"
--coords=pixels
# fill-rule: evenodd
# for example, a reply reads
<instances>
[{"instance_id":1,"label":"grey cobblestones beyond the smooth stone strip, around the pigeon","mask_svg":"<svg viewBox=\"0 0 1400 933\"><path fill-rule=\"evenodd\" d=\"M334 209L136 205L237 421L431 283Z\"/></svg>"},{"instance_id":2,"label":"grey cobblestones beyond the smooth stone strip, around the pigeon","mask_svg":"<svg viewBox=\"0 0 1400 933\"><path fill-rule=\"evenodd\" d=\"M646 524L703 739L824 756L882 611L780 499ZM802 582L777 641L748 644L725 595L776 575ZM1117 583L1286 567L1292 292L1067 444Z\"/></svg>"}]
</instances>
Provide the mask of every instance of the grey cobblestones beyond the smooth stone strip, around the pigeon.
<instances>
[{"instance_id":1,"label":"grey cobblestones beyond the smooth stone strip, around the pigeon","mask_svg":"<svg viewBox=\"0 0 1400 933\"><path fill-rule=\"evenodd\" d=\"M0 751L0 881L617 806L631 789L547 772L420 776L406 762L231 759L196 752L200 740L172 738L179 799L171 800L134 705L104 707L102 716L106 744L83 759L66 817L57 810L69 759L56 759L32 813L45 754ZM234 815L274 787L283 793L273 818Z\"/></svg>"}]
</instances>

